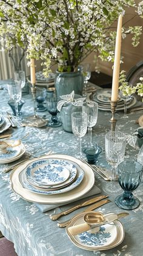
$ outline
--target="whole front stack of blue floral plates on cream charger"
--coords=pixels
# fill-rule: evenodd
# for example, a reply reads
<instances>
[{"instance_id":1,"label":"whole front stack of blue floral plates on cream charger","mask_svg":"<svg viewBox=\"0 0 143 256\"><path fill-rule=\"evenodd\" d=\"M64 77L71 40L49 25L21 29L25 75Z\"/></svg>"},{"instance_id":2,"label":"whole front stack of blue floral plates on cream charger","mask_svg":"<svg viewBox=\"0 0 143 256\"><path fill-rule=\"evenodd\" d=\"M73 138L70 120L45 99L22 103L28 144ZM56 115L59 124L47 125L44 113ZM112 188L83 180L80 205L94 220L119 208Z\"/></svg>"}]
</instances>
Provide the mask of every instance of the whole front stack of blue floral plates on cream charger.
<instances>
[{"instance_id":1,"label":"whole front stack of blue floral plates on cream charger","mask_svg":"<svg viewBox=\"0 0 143 256\"><path fill-rule=\"evenodd\" d=\"M90 167L61 154L25 162L12 172L10 179L13 190L22 198L42 204L70 202L87 193L95 183Z\"/></svg>"}]
</instances>

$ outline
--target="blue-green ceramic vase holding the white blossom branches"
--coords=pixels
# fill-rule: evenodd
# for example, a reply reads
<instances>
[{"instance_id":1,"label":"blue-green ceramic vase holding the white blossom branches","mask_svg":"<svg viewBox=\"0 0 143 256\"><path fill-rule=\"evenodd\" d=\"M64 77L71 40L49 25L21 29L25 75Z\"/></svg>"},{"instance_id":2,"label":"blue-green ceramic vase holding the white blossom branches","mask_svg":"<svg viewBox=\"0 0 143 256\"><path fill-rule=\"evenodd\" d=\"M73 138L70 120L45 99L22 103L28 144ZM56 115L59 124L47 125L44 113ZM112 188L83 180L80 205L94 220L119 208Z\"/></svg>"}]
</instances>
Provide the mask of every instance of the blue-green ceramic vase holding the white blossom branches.
<instances>
[{"instance_id":1,"label":"blue-green ceramic vase holding the white blossom branches","mask_svg":"<svg viewBox=\"0 0 143 256\"><path fill-rule=\"evenodd\" d=\"M84 86L84 77L80 71L78 72L56 72L55 88L57 97L70 94L75 91L75 94L82 94Z\"/></svg>"}]
</instances>

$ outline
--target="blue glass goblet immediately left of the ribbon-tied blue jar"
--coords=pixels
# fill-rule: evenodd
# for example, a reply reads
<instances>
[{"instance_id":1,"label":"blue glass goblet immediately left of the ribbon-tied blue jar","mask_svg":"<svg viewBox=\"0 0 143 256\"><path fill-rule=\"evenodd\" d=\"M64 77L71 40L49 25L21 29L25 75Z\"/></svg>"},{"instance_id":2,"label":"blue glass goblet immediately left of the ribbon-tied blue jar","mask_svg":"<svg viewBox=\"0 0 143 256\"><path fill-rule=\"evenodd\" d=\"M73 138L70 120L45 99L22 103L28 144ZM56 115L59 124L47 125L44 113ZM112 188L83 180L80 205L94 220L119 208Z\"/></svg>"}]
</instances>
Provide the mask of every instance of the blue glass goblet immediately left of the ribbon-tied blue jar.
<instances>
[{"instance_id":1,"label":"blue glass goblet immediately left of the ribbon-tied blue jar","mask_svg":"<svg viewBox=\"0 0 143 256\"><path fill-rule=\"evenodd\" d=\"M50 127L59 127L62 125L62 122L58 121L58 109L57 109L58 100L56 97L47 98L47 110L52 115L51 121L48 122L48 126Z\"/></svg>"}]
</instances>

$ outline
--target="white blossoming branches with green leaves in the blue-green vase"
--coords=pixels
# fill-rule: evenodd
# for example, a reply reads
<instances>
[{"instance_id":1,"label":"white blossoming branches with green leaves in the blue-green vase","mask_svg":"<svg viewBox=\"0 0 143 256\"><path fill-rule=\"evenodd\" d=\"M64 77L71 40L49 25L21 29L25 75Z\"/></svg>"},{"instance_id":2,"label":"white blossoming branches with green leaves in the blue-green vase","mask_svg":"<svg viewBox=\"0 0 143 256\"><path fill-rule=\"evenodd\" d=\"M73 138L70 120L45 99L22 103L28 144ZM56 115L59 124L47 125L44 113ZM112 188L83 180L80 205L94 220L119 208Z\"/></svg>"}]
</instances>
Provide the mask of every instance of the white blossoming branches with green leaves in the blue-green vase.
<instances>
[{"instance_id":1,"label":"white blossoming branches with green leaves in the blue-green vase","mask_svg":"<svg viewBox=\"0 0 143 256\"><path fill-rule=\"evenodd\" d=\"M143 1L1 0L0 36L7 49L27 46L27 58L41 59L45 76L53 63L58 63L59 72L73 72L93 50L102 60L114 60L113 22L129 7L143 18ZM141 30L123 26L122 38L133 34L137 46Z\"/></svg>"}]
</instances>

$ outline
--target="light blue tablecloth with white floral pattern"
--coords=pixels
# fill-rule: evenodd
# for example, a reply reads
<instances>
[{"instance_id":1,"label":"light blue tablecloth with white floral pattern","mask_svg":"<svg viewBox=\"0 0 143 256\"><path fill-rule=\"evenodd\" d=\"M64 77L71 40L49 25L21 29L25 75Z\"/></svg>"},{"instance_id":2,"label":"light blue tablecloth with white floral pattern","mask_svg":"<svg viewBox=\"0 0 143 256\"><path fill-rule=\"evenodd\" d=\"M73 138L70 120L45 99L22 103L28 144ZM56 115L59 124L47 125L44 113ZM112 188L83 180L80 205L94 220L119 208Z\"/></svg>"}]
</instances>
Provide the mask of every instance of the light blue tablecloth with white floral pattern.
<instances>
[{"instance_id":1,"label":"light blue tablecloth with white floral pattern","mask_svg":"<svg viewBox=\"0 0 143 256\"><path fill-rule=\"evenodd\" d=\"M4 85L4 82L0 82L0 85ZM33 111L32 98L30 95L23 97L25 104L22 108L24 115L30 114ZM7 104L8 92L6 90L0 91L0 109L1 111L10 111L10 107ZM47 112L43 112L42 115L50 115ZM129 115L128 119L122 119L123 113L116 112L116 118L118 119L117 128L123 133L132 134L138 124L136 120L141 116L142 112L133 112ZM104 147L104 135L110 130L111 112L99 111L98 122L93 128L93 141L97 142L102 147L103 151L99 156L98 165L107 167L110 169L110 165L105 161L105 147ZM32 127L18 127L10 128L7 131L12 131L13 138L18 139L24 136L26 133L30 133L30 136L24 140L26 148L26 155L39 156L47 153L49 150L55 151L55 153L69 154L76 156L78 153L77 138L72 133L66 133L63 131L62 126L59 128L49 128L45 126L43 128ZM88 134L85 135L85 141L88 140ZM126 157L135 157L138 154L139 148L132 148L127 145ZM23 156L22 158L24 158ZM85 251L76 247L65 232L65 229L57 227L56 221L51 221L49 214L53 212L60 212L61 210L68 209L76 203L70 203L68 206L58 207L50 210L47 213L42 213L38 207L32 202L24 201L19 195L13 192L10 185L10 173L2 173L5 167L9 165L1 165L0 169L0 230L2 234L8 240L13 241L15 244L15 250L19 256L142 256L143 255L143 184L135 190L135 195L141 201L138 209L128 211L130 216L123 218L121 222L125 228L124 241L118 246L109 251L93 252ZM101 177L95 173L95 184L102 190L104 181ZM103 192L105 194L105 192ZM114 200L116 195L110 194L109 198L111 202L105 204L98 210L103 213L108 212L124 212L119 209ZM67 220L69 216L75 215L80 212L81 209L76 210L74 213L70 213L68 216L61 217L60 220Z\"/></svg>"}]
</instances>

